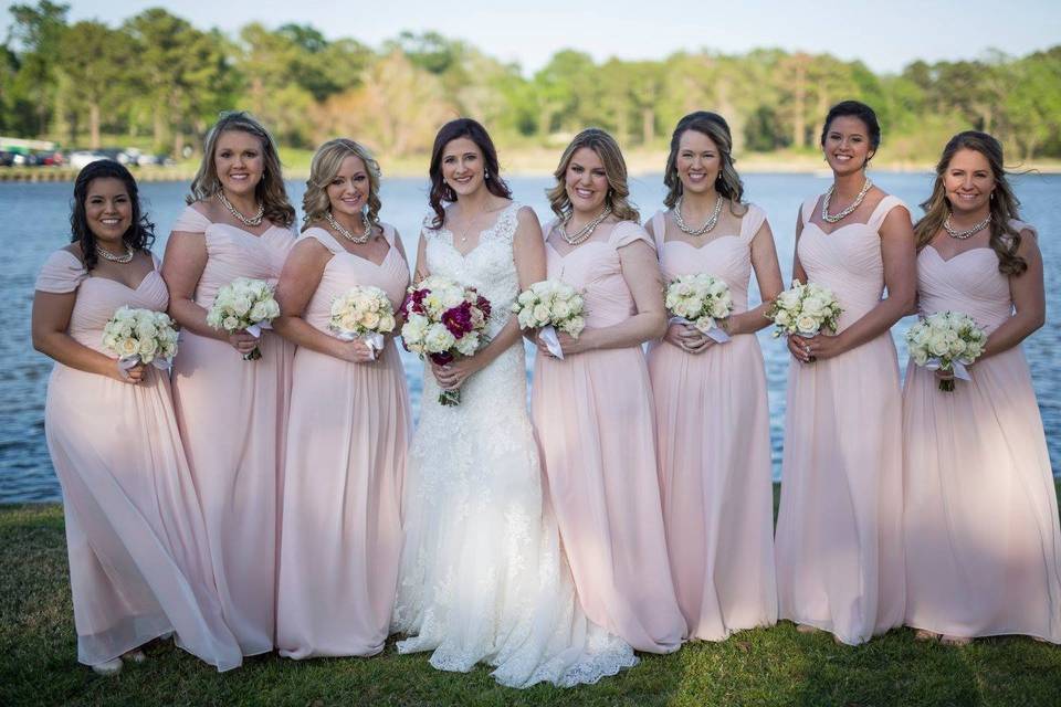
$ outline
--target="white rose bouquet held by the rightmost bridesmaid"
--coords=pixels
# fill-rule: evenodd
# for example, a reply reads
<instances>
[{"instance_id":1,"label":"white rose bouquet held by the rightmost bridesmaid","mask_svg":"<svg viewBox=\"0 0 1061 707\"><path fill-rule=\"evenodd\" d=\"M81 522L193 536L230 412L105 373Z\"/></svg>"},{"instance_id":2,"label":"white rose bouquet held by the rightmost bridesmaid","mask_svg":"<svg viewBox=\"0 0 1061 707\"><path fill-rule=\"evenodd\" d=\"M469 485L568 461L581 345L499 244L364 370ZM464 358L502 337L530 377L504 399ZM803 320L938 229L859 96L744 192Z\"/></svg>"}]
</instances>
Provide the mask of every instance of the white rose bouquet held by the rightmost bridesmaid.
<instances>
[{"instance_id":1,"label":"white rose bouquet held by the rightmost bridesmaid","mask_svg":"<svg viewBox=\"0 0 1061 707\"><path fill-rule=\"evenodd\" d=\"M928 315L906 331L914 363L931 371L953 371L955 378L973 380L966 366L984 354L987 333L967 314L939 312ZM954 390L954 379L941 379L939 390Z\"/></svg>"}]
</instances>

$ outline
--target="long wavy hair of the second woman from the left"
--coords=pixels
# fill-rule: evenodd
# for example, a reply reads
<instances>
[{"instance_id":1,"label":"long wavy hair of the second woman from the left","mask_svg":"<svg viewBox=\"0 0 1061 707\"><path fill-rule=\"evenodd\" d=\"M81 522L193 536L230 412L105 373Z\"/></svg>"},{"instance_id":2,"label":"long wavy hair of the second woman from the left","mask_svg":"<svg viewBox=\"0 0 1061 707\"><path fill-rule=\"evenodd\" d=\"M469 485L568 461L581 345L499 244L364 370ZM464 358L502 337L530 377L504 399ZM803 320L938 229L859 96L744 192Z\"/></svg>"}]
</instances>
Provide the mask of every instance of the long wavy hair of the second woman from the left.
<instances>
[{"instance_id":1,"label":"long wavy hair of the second woman from the left","mask_svg":"<svg viewBox=\"0 0 1061 707\"><path fill-rule=\"evenodd\" d=\"M280 154L276 143L269 130L245 110L222 113L221 117L210 131L207 133L206 145L202 150L202 161L199 171L191 180L191 193L185 199L189 204L206 201L221 190L221 180L218 178L218 168L214 155L218 150L218 138L223 133L241 130L253 135L262 144L262 159L265 163L262 179L254 187L254 197L265 208L265 218L276 225L290 226L295 222L295 208L287 199L284 189L284 177L280 165Z\"/></svg>"}]
</instances>

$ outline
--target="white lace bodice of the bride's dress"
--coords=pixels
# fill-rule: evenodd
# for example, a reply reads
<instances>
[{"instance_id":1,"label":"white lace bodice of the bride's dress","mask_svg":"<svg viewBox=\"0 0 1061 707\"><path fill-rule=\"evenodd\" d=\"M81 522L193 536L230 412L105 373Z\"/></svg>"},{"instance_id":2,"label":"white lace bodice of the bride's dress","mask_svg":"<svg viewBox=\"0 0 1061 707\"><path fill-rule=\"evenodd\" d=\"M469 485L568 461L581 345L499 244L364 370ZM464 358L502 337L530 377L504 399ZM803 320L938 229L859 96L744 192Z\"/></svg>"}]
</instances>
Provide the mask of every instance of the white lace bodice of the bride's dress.
<instances>
[{"instance_id":1,"label":"white lace bodice of the bride's dress","mask_svg":"<svg viewBox=\"0 0 1061 707\"><path fill-rule=\"evenodd\" d=\"M428 270L432 275L471 285L490 300L492 314L487 335L491 337L508 321L512 303L519 294L519 277L512 255L519 208L515 201L505 207L494 224L479 234L479 245L468 255L461 255L456 250L453 232L444 224L440 229L431 228L433 215L423 220Z\"/></svg>"}]
</instances>

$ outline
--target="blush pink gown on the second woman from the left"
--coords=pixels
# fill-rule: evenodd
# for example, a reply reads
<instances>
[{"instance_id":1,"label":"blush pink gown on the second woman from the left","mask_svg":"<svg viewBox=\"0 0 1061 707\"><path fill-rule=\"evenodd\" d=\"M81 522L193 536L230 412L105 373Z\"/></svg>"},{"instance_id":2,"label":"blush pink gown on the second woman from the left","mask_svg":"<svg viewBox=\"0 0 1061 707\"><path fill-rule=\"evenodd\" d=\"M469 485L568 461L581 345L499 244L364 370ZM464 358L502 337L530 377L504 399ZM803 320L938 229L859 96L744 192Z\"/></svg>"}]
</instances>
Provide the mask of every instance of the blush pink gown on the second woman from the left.
<instances>
[{"instance_id":1,"label":"blush pink gown on the second woman from the left","mask_svg":"<svg viewBox=\"0 0 1061 707\"><path fill-rule=\"evenodd\" d=\"M211 223L191 207L174 231L206 234L208 258L195 300L207 310L218 289L237 277L276 284L295 241L280 226L254 235ZM295 347L265 331L260 348L261 359L244 361L227 341L185 330L174 365L177 420L207 520L221 606L244 655L273 650L277 498Z\"/></svg>"}]
</instances>

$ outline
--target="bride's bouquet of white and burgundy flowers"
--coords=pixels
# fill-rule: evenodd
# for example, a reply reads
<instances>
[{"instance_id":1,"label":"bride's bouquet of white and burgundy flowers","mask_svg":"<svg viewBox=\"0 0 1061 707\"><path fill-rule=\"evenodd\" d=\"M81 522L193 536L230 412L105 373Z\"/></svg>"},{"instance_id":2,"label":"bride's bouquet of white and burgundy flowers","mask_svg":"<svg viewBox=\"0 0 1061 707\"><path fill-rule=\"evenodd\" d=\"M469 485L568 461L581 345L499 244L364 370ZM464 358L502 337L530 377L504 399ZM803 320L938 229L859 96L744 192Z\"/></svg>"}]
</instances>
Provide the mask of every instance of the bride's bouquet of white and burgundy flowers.
<instances>
[{"instance_id":1,"label":"bride's bouquet of white and burgundy flowers","mask_svg":"<svg viewBox=\"0 0 1061 707\"><path fill-rule=\"evenodd\" d=\"M472 356L484 346L490 300L474 287L439 275L426 277L419 285L410 285L402 304L406 324L401 338L406 348L421 358L429 357L445 366L458 356ZM461 390L439 393L443 405L461 404Z\"/></svg>"}]
</instances>

